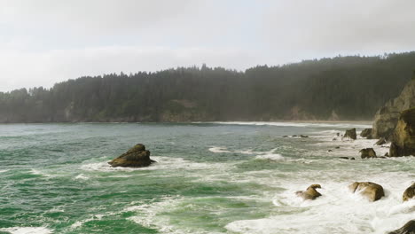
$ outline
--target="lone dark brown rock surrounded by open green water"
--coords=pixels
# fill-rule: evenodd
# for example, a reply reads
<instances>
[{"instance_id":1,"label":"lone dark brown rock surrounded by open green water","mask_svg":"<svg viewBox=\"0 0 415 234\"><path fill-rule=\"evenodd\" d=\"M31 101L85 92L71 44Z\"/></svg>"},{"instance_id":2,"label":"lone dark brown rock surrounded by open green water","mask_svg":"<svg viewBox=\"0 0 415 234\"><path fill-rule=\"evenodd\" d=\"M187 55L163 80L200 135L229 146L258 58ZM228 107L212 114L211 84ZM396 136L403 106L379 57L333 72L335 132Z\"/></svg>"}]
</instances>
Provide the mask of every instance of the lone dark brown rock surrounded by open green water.
<instances>
[{"instance_id":1,"label":"lone dark brown rock surrounded by open green water","mask_svg":"<svg viewBox=\"0 0 415 234\"><path fill-rule=\"evenodd\" d=\"M136 144L128 152L108 162L112 167L142 168L155 162L150 160L150 152L145 150L144 144Z\"/></svg>"}]
</instances>

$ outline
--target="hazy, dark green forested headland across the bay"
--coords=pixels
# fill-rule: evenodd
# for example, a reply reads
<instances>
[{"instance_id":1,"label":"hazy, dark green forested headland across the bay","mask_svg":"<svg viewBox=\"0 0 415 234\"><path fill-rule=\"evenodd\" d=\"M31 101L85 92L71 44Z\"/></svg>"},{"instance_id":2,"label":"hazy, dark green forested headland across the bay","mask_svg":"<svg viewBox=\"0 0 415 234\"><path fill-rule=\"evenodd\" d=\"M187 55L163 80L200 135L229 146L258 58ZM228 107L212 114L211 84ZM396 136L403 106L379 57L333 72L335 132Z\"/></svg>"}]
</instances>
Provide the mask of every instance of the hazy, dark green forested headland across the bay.
<instances>
[{"instance_id":1,"label":"hazy, dark green forested headland across the bay","mask_svg":"<svg viewBox=\"0 0 415 234\"><path fill-rule=\"evenodd\" d=\"M415 52L106 74L0 93L0 122L372 120L411 79Z\"/></svg>"}]
</instances>

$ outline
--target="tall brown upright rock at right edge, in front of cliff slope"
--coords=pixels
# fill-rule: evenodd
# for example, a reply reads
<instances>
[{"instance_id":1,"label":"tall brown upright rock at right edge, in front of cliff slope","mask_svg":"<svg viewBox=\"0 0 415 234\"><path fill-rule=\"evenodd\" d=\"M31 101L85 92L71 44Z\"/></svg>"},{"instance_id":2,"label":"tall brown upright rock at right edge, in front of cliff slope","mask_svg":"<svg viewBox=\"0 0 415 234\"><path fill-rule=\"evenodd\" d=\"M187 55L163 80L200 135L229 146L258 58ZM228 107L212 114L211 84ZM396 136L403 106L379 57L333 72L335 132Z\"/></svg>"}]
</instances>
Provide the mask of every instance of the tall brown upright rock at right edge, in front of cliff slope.
<instances>
[{"instance_id":1,"label":"tall brown upright rock at right edge, in front of cliff slope","mask_svg":"<svg viewBox=\"0 0 415 234\"><path fill-rule=\"evenodd\" d=\"M390 157L415 155L415 108L403 111L396 124L389 148Z\"/></svg>"}]
</instances>

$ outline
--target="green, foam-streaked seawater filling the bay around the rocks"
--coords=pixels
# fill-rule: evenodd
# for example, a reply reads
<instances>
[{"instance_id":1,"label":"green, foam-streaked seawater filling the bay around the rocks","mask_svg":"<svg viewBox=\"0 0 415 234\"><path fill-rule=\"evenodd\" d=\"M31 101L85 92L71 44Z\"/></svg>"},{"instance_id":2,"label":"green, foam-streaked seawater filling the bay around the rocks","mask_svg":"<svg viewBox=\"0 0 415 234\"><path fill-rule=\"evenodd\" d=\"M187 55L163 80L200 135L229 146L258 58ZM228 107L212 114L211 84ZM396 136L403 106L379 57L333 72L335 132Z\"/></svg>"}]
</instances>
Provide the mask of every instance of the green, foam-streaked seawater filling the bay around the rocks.
<instances>
[{"instance_id":1,"label":"green, foam-streaked seawater filling the bay around the rocks","mask_svg":"<svg viewBox=\"0 0 415 234\"><path fill-rule=\"evenodd\" d=\"M336 136L366 125L0 125L0 233L384 233L415 217L400 200L415 163L359 160L373 140ZM294 134L309 137L282 137ZM138 143L158 162L107 165ZM347 190L354 181L387 196L360 199ZM324 196L294 196L311 183Z\"/></svg>"}]
</instances>

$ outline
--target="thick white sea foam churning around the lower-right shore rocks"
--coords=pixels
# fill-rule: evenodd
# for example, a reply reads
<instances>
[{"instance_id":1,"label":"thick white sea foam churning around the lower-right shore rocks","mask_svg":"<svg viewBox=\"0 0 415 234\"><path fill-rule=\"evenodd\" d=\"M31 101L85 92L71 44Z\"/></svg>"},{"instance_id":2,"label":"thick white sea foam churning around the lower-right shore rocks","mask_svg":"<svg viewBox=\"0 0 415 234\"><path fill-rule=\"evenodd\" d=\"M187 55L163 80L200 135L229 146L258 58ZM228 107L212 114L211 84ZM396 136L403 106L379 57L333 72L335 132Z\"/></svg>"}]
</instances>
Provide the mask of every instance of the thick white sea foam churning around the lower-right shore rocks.
<instances>
[{"instance_id":1,"label":"thick white sea foam churning around the lower-right shore rocks","mask_svg":"<svg viewBox=\"0 0 415 234\"><path fill-rule=\"evenodd\" d=\"M297 176L301 178L303 175ZM325 181L321 181L323 188L319 191L323 196L305 201L296 197L294 192L305 190L307 185L304 181L289 176L287 181L278 182L286 191L276 194L272 200L278 210L286 210L286 214L239 220L230 222L225 227L233 232L253 234L309 233L309 230L314 233L383 234L398 229L415 215L415 200L403 203L401 197L407 186L402 182L411 181L410 175L395 173L363 178L364 181L374 181L384 186L386 197L376 202L369 202L358 194L351 193L348 191L348 183L335 183L330 176L332 175L327 175ZM375 180L377 176L381 179ZM306 182L309 183L312 181Z\"/></svg>"}]
</instances>

